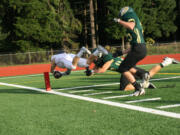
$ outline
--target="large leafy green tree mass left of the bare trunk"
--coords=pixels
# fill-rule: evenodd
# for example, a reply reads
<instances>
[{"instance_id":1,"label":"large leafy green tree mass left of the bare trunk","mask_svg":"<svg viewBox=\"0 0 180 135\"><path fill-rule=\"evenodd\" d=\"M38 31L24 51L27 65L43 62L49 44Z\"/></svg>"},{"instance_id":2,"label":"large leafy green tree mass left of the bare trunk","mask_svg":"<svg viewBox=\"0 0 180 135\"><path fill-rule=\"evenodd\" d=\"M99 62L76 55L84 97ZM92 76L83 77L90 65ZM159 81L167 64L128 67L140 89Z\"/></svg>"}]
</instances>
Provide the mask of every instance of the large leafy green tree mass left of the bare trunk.
<instances>
[{"instance_id":1,"label":"large leafy green tree mass left of the bare trunk","mask_svg":"<svg viewBox=\"0 0 180 135\"><path fill-rule=\"evenodd\" d=\"M6 51L59 48L81 31L67 0L2 0L0 6L2 31L9 33Z\"/></svg>"}]
</instances>

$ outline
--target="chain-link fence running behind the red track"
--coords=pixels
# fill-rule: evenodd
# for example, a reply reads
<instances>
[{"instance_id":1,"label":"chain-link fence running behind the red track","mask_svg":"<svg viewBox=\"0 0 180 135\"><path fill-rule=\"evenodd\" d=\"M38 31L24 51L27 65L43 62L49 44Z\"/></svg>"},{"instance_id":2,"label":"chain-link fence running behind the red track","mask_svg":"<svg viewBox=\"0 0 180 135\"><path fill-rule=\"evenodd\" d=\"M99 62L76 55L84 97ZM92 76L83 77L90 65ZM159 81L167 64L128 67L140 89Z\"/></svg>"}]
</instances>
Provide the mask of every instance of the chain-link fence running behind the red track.
<instances>
[{"instance_id":1,"label":"chain-link fence running behind the red track","mask_svg":"<svg viewBox=\"0 0 180 135\"><path fill-rule=\"evenodd\" d=\"M158 43L155 45L147 45L148 52L152 54L168 54L168 53L180 53L180 42L177 43ZM120 46L111 47L111 52ZM92 51L92 48L89 48ZM70 53L76 54L79 50L69 50ZM51 56L57 54L59 50L50 51L38 51L38 52L27 52L27 53L9 53L0 54L0 66L11 66L11 65L25 65L25 64L38 64L38 63L49 63ZM87 55L84 55L87 57Z\"/></svg>"}]
</instances>

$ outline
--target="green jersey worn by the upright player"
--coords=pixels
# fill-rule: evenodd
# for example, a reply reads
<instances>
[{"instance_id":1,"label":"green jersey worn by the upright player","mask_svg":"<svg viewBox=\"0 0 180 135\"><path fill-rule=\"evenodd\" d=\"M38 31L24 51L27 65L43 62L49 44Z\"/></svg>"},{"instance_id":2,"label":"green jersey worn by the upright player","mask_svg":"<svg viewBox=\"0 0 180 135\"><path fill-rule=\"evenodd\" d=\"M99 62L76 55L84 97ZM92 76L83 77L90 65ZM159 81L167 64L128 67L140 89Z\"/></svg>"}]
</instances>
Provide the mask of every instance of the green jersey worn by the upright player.
<instances>
[{"instance_id":1,"label":"green jersey worn by the upright player","mask_svg":"<svg viewBox=\"0 0 180 135\"><path fill-rule=\"evenodd\" d=\"M136 13L133 10L131 10L131 12L127 11L127 13L125 13L121 19L126 22L135 23L135 27L133 30L127 30L127 37L130 44L135 45L139 43L145 43L143 37L143 28Z\"/></svg>"}]
</instances>

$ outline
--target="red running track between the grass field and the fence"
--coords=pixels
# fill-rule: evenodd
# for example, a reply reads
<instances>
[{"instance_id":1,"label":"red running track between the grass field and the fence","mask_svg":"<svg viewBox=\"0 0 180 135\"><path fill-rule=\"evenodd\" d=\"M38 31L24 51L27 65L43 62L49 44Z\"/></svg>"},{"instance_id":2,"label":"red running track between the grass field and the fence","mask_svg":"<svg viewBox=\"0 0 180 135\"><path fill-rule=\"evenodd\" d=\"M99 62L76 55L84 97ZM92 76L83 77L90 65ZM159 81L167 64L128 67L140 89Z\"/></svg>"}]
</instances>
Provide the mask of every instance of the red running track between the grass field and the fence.
<instances>
[{"instance_id":1,"label":"red running track between the grass field and the fence","mask_svg":"<svg viewBox=\"0 0 180 135\"><path fill-rule=\"evenodd\" d=\"M164 57L171 57L180 61L180 54L151 55L151 56L146 56L146 58L140 61L138 65L160 63L162 62ZM49 72L50 66L51 66L50 64L34 64L34 65L0 67L0 77L42 74L44 72ZM92 66L93 65L91 65L91 67ZM82 70L82 69L84 68L77 68L77 70ZM57 70L64 71L64 69L57 69Z\"/></svg>"}]
</instances>

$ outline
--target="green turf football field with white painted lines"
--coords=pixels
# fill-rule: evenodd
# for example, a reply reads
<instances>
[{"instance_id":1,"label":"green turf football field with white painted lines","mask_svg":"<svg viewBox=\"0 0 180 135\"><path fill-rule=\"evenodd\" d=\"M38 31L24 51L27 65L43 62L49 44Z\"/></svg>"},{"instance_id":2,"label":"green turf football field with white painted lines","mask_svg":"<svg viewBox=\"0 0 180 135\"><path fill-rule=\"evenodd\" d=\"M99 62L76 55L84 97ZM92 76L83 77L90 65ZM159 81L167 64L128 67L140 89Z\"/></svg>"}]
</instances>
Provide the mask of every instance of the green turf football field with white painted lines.
<instances>
[{"instance_id":1,"label":"green turf football field with white painted lines","mask_svg":"<svg viewBox=\"0 0 180 135\"><path fill-rule=\"evenodd\" d=\"M119 78L50 75L46 91L43 74L1 77L0 135L180 134L180 64L163 68L150 80L157 88L139 97L120 91Z\"/></svg>"}]
</instances>

